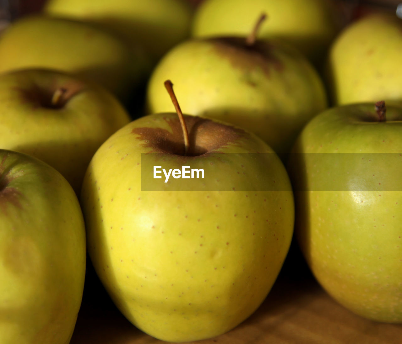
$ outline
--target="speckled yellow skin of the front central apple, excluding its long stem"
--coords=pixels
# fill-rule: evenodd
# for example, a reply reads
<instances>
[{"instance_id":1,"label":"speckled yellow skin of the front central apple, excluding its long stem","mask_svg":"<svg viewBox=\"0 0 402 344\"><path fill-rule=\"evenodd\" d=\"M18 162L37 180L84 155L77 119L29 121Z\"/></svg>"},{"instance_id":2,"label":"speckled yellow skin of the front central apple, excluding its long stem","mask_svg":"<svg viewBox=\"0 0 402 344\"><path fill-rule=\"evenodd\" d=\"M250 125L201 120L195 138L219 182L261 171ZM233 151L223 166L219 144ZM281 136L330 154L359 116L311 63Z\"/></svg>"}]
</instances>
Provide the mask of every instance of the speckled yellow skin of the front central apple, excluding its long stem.
<instances>
[{"instance_id":1,"label":"speckled yellow skin of the front central apple, excluding its long stem","mask_svg":"<svg viewBox=\"0 0 402 344\"><path fill-rule=\"evenodd\" d=\"M139 329L173 342L217 336L255 311L281 269L294 216L287 173L262 140L211 120L185 120L194 147L207 147L207 153L165 151L169 144L183 146L181 132L175 139L169 134L179 126L177 115L145 116L98 149L81 195L88 252L109 295ZM222 137L226 143L214 147ZM258 185L269 173L269 183L272 177L283 191L141 191L141 154L154 151L180 165L216 166L209 177L217 179L215 188L244 183L236 173L240 162L225 153L268 153L271 164L251 169L250 183ZM213 152L227 163L209 157Z\"/></svg>"}]
</instances>

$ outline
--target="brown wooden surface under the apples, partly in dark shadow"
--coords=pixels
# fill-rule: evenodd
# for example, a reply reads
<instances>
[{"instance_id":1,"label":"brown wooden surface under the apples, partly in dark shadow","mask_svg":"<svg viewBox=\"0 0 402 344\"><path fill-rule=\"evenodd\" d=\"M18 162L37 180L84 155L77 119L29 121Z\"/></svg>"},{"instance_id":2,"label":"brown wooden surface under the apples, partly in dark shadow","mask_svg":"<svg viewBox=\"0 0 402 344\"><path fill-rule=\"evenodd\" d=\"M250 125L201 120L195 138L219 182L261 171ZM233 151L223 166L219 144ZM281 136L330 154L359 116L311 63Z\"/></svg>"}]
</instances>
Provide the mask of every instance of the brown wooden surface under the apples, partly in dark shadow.
<instances>
[{"instance_id":1,"label":"brown wooden surface under the apples, partly in dark shadow","mask_svg":"<svg viewBox=\"0 0 402 344\"><path fill-rule=\"evenodd\" d=\"M351 313L329 297L297 261L301 261L297 252L289 255L267 299L250 318L222 336L197 343L402 344L402 325ZM88 279L70 344L165 343L137 330L119 313L91 267Z\"/></svg>"}]
</instances>

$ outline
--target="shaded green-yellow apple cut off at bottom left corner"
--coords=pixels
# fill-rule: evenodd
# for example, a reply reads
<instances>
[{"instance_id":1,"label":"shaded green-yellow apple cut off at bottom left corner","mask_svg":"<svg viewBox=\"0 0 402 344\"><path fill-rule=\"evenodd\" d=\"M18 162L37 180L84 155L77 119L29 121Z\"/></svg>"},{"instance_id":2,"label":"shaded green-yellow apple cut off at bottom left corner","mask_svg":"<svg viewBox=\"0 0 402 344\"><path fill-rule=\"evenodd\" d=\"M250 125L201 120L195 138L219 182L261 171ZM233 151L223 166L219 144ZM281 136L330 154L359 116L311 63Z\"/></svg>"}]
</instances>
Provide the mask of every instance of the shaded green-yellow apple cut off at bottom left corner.
<instances>
[{"instance_id":1,"label":"shaded green-yellow apple cut off at bottom left corner","mask_svg":"<svg viewBox=\"0 0 402 344\"><path fill-rule=\"evenodd\" d=\"M66 344L86 265L77 196L55 169L0 149L0 343Z\"/></svg>"}]
</instances>

